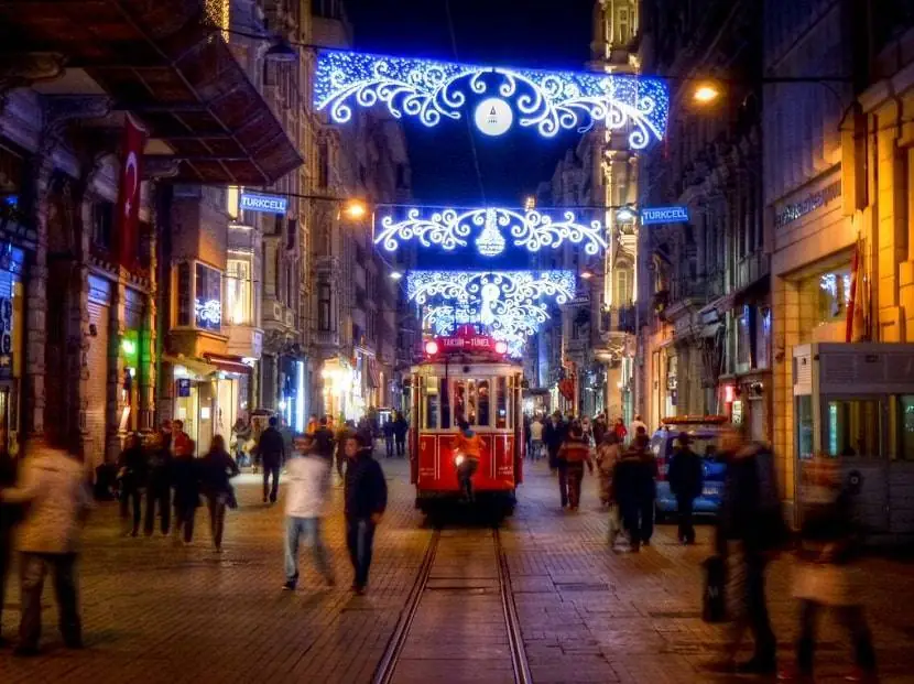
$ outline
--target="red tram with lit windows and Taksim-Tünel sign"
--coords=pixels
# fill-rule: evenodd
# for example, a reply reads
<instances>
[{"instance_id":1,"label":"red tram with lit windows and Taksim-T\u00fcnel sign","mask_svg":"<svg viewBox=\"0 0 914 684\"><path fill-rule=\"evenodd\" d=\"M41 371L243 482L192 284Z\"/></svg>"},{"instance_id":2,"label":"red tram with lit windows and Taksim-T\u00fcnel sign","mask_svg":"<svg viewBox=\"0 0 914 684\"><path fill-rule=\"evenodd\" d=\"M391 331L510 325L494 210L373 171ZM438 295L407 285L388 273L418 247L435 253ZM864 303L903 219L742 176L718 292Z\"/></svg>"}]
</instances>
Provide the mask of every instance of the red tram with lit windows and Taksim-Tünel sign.
<instances>
[{"instance_id":1,"label":"red tram with lit windows and Taksim-T\u00fcnel sign","mask_svg":"<svg viewBox=\"0 0 914 684\"><path fill-rule=\"evenodd\" d=\"M523 479L523 372L507 351L504 343L467 332L428 340L425 360L412 368L411 481L423 512L460 498L454 443L461 420L483 447L472 476L475 500L513 512Z\"/></svg>"}]
</instances>

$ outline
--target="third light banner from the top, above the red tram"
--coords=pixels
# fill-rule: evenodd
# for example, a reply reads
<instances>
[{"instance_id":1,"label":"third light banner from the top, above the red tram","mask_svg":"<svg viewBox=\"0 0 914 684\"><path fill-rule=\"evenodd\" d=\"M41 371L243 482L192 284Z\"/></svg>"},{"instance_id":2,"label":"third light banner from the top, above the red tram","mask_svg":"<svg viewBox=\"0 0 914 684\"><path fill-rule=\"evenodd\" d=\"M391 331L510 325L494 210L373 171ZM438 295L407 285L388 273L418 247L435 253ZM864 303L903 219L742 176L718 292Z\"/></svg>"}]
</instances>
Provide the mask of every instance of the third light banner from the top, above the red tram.
<instances>
[{"instance_id":1,"label":"third light banner from the top, above the red tram","mask_svg":"<svg viewBox=\"0 0 914 684\"><path fill-rule=\"evenodd\" d=\"M564 304L575 296L574 271L410 271L406 296L424 305L432 300L469 304L479 301L480 315L500 303L534 304L545 297ZM489 323L482 318L482 323Z\"/></svg>"}]
</instances>

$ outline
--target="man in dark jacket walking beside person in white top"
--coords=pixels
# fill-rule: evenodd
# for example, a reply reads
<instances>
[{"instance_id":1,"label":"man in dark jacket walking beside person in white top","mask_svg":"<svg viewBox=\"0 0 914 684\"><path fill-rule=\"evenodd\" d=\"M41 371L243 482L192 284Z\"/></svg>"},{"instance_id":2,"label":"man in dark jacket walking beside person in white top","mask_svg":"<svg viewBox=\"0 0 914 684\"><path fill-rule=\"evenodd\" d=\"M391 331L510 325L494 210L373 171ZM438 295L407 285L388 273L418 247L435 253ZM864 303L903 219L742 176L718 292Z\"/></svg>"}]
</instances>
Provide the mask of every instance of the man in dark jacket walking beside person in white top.
<instances>
[{"instance_id":1,"label":"man in dark jacket walking beside person in white top","mask_svg":"<svg viewBox=\"0 0 914 684\"><path fill-rule=\"evenodd\" d=\"M345 448L349 458L344 489L346 545L355 571L352 590L362 595L368 586L374 530L388 504L388 484L370 444L352 435L347 437Z\"/></svg>"}]
</instances>

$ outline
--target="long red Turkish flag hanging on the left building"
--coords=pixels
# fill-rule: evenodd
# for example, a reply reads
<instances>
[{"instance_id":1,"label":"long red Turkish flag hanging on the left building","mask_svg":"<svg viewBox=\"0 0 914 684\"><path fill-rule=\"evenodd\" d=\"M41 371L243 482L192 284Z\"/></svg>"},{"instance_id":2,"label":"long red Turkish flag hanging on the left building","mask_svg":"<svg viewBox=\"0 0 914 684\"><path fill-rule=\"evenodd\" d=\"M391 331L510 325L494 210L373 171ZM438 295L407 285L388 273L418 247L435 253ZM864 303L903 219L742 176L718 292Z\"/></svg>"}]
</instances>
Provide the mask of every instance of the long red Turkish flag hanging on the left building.
<instances>
[{"instance_id":1,"label":"long red Turkish flag hanging on the left building","mask_svg":"<svg viewBox=\"0 0 914 684\"><path fill-rule=\"evenodd\" d=\"M140 182L143 161L143 146L146 131L129 113L123 122L121 143L121 177L118 191L118 213L116 219L118 235L118 261L124 268L137 263L140 243Z\"/></svg>"}]
</instances>

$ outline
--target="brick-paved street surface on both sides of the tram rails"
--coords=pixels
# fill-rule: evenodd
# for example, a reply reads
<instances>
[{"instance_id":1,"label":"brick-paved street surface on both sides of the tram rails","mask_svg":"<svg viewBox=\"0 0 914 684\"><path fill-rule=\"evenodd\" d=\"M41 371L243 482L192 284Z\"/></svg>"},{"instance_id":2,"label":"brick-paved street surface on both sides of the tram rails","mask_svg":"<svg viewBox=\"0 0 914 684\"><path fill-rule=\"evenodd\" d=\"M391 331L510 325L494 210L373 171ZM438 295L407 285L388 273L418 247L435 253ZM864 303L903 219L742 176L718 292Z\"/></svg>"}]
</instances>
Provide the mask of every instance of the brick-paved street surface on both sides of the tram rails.
<instances>
[{"instance_id":1,"label":"brick-paved street surface on both sides of the tram rails","mask_svg":"<svg viewBox=\"0 0 914 684\"><path fill-rule=\"evenodd\" d=\"M300 589L280 590L282 502L262 506L253 476L243 476L242 507L229 513L221 555L210 547L204 510L197 539L185 549L159 535L120 536L116 507L102 504L89 523L80 566L87 649L63 648L46 588L44 654L20 661L9 650L0 652L0 682L369 682L431 538L413 510L405 464L383 465L391 506L378 534L366 597L347 590L349 567L339 514L327 528L339 586L320 588L304 564ZM725 681L705 669L721 654L721 630L699 617L698 566L709 552L709 530L701 529L698 546L683 549L674 542L673 529L662 525L653 545L640 555L611 553L594 486L595 479L587 478L579 513L563 513L555 480L543 464L533 466L518 512L501 535L534 682ZM339 493L337 488L337 509ZM870 618L883 681L914 682L914 576L900 563L869 563L875 582ZM785 659L795 621L788 565L786 560L775 564L770 587ZM11 586L3 615L6 636L13 636L18 618L18 590ZM497 643L480 648L486 630L463 649L447 643L444 615L437 622L423 616L422 629L429 634L429 645L440 648L413 649L404 658L435 663L438 684L486 682L493 674L508 674L475 664L499 650ZM435 630L440 631L433 634ZM849 653L827 620L821 641L820 681L839 681Z\"/></svg>"}]
</instances>

